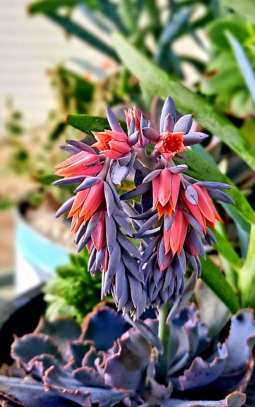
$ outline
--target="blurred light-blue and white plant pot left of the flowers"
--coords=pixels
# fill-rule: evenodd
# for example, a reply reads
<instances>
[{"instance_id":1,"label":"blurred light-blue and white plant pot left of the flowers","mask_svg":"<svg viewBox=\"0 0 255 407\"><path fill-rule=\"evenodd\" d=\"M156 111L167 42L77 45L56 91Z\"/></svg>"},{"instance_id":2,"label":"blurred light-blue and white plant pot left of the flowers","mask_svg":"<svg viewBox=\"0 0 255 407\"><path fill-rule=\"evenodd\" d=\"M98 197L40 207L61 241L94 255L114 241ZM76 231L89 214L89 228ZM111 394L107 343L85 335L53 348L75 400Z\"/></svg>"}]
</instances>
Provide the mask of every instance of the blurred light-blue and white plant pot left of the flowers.
<instances>
[{"instance_id":1,"label":"blurred light-blue and white plant pot left of the flowers","mask_svg":"<svg viewBox=\"0 0 255 407\"><path fill-rule=\"evenodd\" d=\"M69 254L73 252L35 230L25 217L28 208L29 204L23 202L15 214L15 288L18 294L47 281L57 266L69 262Z\"/></svg>"}]
</instances>

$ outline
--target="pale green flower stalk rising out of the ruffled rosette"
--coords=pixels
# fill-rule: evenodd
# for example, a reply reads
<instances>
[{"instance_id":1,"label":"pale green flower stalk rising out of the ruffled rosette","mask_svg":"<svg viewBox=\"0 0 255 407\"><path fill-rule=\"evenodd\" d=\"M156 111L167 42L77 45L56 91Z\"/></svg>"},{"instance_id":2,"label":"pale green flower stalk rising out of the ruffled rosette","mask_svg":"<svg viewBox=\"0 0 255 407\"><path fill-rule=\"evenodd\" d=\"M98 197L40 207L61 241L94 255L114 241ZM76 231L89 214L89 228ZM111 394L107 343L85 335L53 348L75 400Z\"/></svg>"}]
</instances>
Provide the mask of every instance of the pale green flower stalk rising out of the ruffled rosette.
<instances>
[{"instance_id":1,"label":"pale green flower stalk rising out of the ruffled rosette","mask_svg":"<svg viewBox=\"0 0 255 407\"><path fill-rule=\"evenodd\" d=\"M170 344L170 324L166 324L166 319L168 317L171 306L169 302L166 302L159 310L159 320L158 320L158 337L162 341L163 353L158 357L158 372L157 380L159 383L166 384L168 362L169 362L169 344Z\"/></svg>"}]
</instances>

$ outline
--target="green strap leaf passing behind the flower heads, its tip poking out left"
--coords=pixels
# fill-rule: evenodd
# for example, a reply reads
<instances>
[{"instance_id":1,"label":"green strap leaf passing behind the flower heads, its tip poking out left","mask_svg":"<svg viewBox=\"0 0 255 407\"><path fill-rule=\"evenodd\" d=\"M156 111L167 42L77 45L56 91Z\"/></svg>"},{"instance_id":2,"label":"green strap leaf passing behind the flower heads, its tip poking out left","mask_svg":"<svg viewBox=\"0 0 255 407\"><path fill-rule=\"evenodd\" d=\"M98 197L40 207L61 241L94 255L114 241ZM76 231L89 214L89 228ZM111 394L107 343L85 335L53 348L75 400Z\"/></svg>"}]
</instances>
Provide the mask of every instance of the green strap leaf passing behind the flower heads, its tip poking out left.
<instances>
[{"instance_id":1,"label":"green strap leaf passing behind the flower heads, its tip poking out left","mask_svg":"<svg viewBox=\"0 0 255 407\"><path fill-rule=\"evenodd\" d=\"M91 134L93 131L104 131L104 129L110 129L109 123L106 118L89 116L87 114L69 115L67 116L67 123L86 134ZM127 125L124 120L120 120L121 126L124 131L127 131ZM202 149L203 147L201 147ZM230 181L226 175L222 174L219 169L213 164L207 162L200 155L194 151L186 150L183 155L188 158L188 170L187 175L199 179L201 181L216 181L225 182L234 186L233 189L228 190L227 193L235 201L235 208L238 212L249 222L255 223L255 215L253 210L245 199L244 195L238 190L238 188ZM174 159L178 164L183 164L183 160Z\"/></svg>"}]
</instances>

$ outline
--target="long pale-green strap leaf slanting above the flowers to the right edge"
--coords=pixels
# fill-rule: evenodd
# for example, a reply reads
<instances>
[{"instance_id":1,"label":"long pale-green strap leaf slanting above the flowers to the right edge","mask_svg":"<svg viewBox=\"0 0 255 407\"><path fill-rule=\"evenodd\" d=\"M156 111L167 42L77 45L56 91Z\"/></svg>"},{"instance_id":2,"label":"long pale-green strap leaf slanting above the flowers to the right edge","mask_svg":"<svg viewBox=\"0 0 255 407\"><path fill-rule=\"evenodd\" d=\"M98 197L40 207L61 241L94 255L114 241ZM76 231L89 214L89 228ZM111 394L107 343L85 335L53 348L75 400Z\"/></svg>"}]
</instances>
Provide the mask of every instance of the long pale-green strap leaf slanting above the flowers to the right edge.
<instances>
[{"instance_id":1,"label":"long pale-green strap leaf slanting above the flowers to the right edge","mask_svg":"<svg viewBox=\"0 0 255 407\"><path fill-rule=\"evenodd\" d=\"M195 113L199 124L218 136L243 160L255 169L255 150L236 127L201 96L194 94L166 72L140 54L121 34L114 33L113 40L119 57L139 79L151 95L166 98L170 94L177 108L184 114Z\"/></svg>"}]
</instances>

